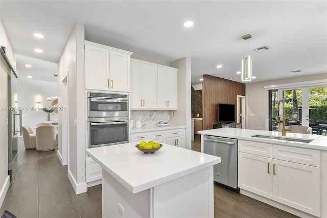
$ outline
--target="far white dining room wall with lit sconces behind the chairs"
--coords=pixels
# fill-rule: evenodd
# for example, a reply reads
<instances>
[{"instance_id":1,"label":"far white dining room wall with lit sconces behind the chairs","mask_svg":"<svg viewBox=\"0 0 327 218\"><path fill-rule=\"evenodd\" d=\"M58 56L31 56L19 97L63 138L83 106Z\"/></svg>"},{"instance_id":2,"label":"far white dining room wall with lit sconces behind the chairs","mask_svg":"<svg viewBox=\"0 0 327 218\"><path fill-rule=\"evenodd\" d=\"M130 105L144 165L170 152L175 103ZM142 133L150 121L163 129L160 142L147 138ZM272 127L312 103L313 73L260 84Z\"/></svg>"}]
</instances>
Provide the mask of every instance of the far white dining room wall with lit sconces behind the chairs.
<instances>
[{"instance_id":1,"label":"far white dining room wall with lit sconces behind the chairs","mask_svg":"<svg viewBox=\"0 0 327 218\"><path fill-rule=\"evenodd\" d=\"M46 122L48 113L42 107L51 107L52 101L46 98L57 96L57 82L45 82L28 79L17 79L17 106L24 108L21 112L21 124L30 126L34 132L37 123ZM37 104L38 101L41 102ZM50 114L51 120L57 120L58 114Z\"/></svg>"}]
</instances>

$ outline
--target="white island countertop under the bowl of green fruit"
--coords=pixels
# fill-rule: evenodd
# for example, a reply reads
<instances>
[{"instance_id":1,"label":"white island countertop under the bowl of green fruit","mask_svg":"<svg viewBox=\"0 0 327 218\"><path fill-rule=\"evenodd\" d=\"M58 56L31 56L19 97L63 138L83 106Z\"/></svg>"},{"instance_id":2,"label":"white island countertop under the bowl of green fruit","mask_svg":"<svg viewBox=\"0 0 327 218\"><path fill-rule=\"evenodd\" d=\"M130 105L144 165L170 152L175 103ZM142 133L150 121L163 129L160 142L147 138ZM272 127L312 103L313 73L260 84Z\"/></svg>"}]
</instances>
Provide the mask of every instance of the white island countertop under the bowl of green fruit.
<instances>
[{"instance_id":1,"label":"white island countertop under the bowl of green fruit","mask_svg":"<svg viewBox=\"0 0 327 218\"><path fill-rule=\"evenodd\" d=\"M220 163L219 157L173 145L162 144L154 154L144 154L135 145L88 148L86 153L132 193Z\"/></svg>"}]
</instances>

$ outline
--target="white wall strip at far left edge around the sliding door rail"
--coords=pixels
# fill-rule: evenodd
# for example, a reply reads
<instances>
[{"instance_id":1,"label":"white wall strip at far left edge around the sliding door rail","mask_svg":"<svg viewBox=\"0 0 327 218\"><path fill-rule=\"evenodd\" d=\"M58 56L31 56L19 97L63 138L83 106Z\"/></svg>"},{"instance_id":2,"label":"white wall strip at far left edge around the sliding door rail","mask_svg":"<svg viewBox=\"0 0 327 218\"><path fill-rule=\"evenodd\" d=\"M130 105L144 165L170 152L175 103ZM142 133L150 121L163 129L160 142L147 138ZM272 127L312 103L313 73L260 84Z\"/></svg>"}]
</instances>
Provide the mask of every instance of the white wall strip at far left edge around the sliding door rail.
<instances>
[{"instance_id":1,"label":"white wall strip at far left edge around the sliding door rail","mask_svg":"<svg viewBox=\"0 0 327 218\"><path fill-rule=\"evenodd\" d=\"M6 29L0 18L0 45L6 47L6 54L9 61L15 67L15 55L7 35ZM0 206L4 202L8 187L8 68L0 60Z\"/></svg>"}]
</instances>

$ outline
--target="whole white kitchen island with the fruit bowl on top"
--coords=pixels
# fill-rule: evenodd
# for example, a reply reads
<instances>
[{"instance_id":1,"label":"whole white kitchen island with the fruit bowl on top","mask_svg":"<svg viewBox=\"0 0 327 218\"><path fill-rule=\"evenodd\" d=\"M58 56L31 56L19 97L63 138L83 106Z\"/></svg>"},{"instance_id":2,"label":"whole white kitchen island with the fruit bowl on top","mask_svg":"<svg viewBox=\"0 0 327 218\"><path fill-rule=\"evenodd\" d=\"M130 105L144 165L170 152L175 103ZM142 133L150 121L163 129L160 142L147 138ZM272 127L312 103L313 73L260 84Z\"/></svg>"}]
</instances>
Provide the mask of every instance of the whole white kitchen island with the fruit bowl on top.
<instances>
[{"instance_id":1,"label":"whole white kitchen island with the fruit bowl on top","mask_svg":"<svg viewBox=\"0 0 327 218\"><path fill-rule=\"evenodd\" d=\"M103 217L214 217L213 165L220 158L162 144L86 149L101 167Z\"/></svg>"}]
</instances>

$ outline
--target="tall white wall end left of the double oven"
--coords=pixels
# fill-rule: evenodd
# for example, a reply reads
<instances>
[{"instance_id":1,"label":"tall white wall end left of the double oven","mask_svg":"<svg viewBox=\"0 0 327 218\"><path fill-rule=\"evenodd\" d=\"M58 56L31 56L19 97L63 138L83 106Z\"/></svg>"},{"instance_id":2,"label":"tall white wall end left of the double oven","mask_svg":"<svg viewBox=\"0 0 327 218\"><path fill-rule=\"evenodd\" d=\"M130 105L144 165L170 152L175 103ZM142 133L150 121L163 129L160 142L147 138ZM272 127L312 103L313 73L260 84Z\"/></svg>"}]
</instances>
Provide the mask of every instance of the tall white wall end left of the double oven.
<instances>
[{"instance_id":1,"label":"tall white wall end left of the double oven","mask_svg":"<svg viewBox=\"0 0 327 218\"><path fill-rule=\"evenodd\" d=\"M85 69L84 69L84 25L76 23L62 52L58 67L58 103L62 96L61 80L68 75L68 178L77 194L87 191L85 182ZM59 113L59 121L62 113ZM75 124L76 120L76 126ZM62 126L58 126L58 142L62 142ZM58 151L66 149L58 145ZM62 156L65 154L62 153Z\"/></svg>"}]
</instances>

